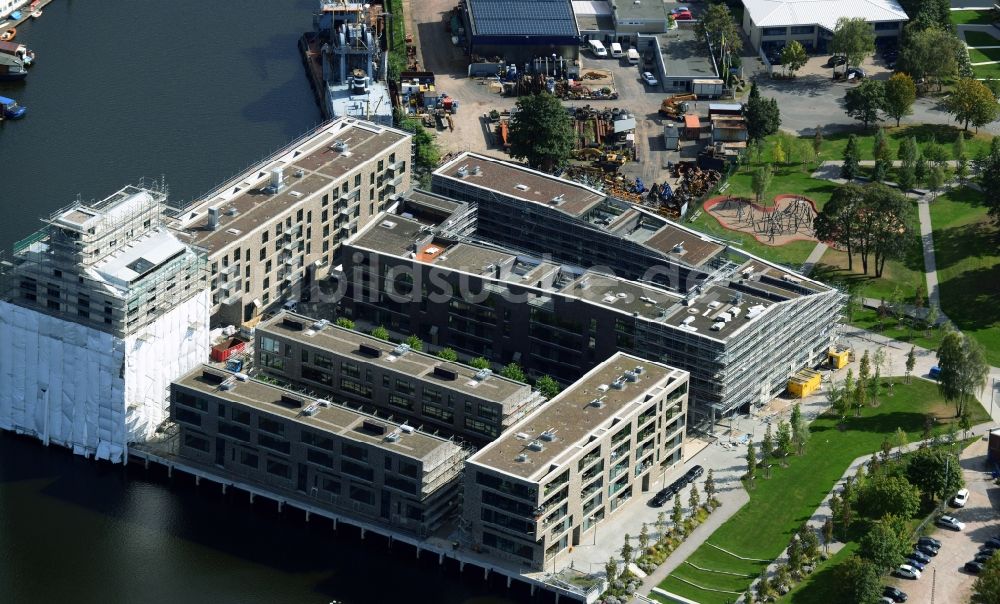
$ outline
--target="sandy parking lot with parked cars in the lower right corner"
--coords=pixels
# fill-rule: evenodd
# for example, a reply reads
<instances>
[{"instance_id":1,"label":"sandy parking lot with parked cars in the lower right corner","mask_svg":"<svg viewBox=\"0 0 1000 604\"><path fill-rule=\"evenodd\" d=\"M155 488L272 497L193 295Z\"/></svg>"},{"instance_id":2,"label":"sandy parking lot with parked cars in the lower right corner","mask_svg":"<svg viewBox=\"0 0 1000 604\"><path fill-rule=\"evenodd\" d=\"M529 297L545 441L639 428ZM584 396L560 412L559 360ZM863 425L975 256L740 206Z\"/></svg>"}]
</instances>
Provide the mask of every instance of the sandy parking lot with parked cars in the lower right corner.
<instances>
[{"instance_id":1,"label":"sandy parking lot with parked cars in the lower right corner","mask_svg":"<svg viewBox=\"0 0 1000 604\"><path fill-rule=\"evenodd\" d=\"M980 546L1000 534L1000 487L993 484L986 471L986 441L980 440L962 454L962 470L968 504L961 509L948 508L948 514L965 523L962 531L938 528L931 536L941 541L941 550L924 569L919 579L895 578L895 585L906 592L908 602L968 602L975 575L963 567L972 560ZM931 593L933 589L933 594Z\"/></svg>"}]
</instances>

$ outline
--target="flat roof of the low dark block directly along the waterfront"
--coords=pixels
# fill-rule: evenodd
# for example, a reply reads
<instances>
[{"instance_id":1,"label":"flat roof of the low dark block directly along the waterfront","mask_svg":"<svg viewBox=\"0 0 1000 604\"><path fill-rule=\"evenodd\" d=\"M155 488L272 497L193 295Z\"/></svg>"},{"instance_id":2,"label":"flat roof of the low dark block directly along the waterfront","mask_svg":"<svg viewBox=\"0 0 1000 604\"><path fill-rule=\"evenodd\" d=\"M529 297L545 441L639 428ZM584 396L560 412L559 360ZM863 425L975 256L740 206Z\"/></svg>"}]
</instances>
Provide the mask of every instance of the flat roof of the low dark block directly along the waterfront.
<instances>
[{"instance_id":1,"label":"flat roof of the low dark block directly along the waterfront","mask_svg":"<svg viewBox=\"0 0 1000 604\"><path fill-rule=\"evenodd\" d=\"M206 371L230 378L232 387L229 390L221 390L217 382L206 380L203 377ZM303 413L303 409L292 409L282 403L281 397L290 395L297 399L305 399L306 406L317 401L309 399L301 393L265 384L264 382L258 382L257 380L251 379L242 382L235 378L235 374L208 365L195 368L194 371L176 380L174 383L226 401L240 403L254 409L259 409L265 413L291 419L309 428L374 445L380 449L385 449L398 455L406 455L414 459L436 459L439 458L439 449L442 447L458 448L458 445L450 440L420 432L419 430L414 430L412 433L400 431L398 440L387 440L385 436L397 431L401 424L355 411L335 403L331 403L328 406L320 405L314 415L306 415ZM371 431L365 430L363 424L366 421L376 422L385 426L385 435L374 434Z\"/></svg>"}]
</instances>

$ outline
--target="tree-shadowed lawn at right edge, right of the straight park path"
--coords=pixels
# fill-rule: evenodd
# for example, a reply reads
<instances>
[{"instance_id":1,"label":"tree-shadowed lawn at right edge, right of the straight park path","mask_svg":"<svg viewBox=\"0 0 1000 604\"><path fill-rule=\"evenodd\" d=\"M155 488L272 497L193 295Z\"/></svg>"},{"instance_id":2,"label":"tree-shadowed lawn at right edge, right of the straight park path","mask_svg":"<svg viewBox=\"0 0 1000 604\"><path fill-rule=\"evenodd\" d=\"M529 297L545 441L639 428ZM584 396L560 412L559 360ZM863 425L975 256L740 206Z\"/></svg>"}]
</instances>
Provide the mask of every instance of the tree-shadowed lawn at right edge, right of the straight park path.
<instances>
[{"instance_id":1,"label":"tree-shadowed lawn at right edge, right of the straight park path","mask_svg":"<svg viewBox=\"0 0 1000 604\"><path fill-rule=\"evenodd\" d=\"M1000 250L982 194L951 191L931 204L944 314L1000 365Z\"/></svg>"}]
</instances>

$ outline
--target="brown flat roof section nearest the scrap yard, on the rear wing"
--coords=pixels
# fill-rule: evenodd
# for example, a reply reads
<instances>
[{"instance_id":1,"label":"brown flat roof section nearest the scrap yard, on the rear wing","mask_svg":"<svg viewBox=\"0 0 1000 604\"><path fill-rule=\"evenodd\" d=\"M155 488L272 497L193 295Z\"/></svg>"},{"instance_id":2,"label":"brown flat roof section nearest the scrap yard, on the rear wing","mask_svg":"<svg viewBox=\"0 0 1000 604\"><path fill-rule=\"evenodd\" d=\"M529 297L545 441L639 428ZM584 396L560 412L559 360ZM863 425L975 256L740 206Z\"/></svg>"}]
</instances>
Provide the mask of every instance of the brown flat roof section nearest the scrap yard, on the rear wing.
<instances>
[{"instance_id":1,"label":"brown flat roof section nearest the scrap yard, on the rear wing","mask_svg":"<svg viewBox=\"0 0 1000 604\"><path fill-rule=\"evenodd\" d=\"M465 176L461 176L460 171ZM435 170L434 174L539 203L576 217L586 214L606 197L579 183L477 153L462 153Z\"/></svg>"}]
</instances>

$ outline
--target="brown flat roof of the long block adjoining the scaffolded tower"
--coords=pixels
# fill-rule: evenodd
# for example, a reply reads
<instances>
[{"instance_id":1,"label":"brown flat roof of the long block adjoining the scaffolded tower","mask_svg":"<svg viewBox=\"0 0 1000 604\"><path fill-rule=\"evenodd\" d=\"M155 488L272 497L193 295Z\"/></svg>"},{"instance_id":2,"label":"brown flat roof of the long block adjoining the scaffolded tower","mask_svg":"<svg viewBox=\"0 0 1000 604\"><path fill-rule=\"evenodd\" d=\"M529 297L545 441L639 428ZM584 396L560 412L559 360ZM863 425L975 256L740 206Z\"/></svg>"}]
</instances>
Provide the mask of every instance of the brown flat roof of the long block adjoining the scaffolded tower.
<instances>
[{"instance_id":1,"label":"brown flat roof of the long block adjoining the scaffolded tower","mask_svg":"<svg viewBox=\"0 0 1000 604\"><path fill-rule=\"evenodd\" d=\"M409 138L402 130L353 118L327 122L312 134L272 155L264 162L219 187L167 220L188 243L209 254L243 239L276 216L308 199L370 159ZM346 150L334 143L344 142ZM284 186L267 191L272 171L283 171ZM219 226L208 228L208 210L219 210ZM235 212L235 215L231 213Z\"/></svg>"}]
</instances>

